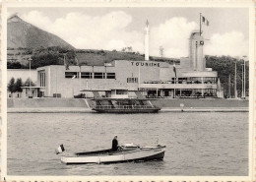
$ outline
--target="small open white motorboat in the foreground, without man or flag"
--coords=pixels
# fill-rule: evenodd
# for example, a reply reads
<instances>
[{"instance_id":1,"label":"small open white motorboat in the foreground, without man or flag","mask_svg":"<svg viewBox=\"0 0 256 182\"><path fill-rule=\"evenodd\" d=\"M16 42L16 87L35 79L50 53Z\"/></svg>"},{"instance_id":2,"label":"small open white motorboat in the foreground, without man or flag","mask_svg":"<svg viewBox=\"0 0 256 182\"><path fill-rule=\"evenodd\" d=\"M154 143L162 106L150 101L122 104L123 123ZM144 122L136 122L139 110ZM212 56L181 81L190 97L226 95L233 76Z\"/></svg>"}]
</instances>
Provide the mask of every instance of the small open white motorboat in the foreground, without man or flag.
<instances>
[{"instance_id":1,"label":"small open white motorboat in the foreground, without man or flag","mask_svg":"<svg viewBox=\"0 0 256 182\"><path fill-rule=\"evenodd\" d=\"M162 160L165 146L134 146L125 145L116 152L103 150L96 152L77 152L70 156L61 156L61 162L65 164L85 163L113 163L127 161Z\"/></svg>"}]
</instances>

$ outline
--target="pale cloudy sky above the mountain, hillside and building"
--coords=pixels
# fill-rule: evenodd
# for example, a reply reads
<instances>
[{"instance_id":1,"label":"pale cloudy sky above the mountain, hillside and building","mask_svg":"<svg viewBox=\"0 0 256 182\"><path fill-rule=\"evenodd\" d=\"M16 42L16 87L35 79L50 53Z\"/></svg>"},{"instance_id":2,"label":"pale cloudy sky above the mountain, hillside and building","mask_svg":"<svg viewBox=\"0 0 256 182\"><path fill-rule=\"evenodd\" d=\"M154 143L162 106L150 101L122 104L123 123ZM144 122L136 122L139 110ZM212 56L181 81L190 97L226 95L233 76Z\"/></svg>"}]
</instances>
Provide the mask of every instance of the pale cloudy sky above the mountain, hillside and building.
<instances>
[{"instance_id":1,"label":"pale cloudy sky above the mountain, hillside and building","mask_svg":"<svg viewBox=\"0 0 256 182\"><path fill-rule=\"evenodd\" d=\"M24 21L63 38L76 48L121 50L131 46L144 53L144 33L150 23L150 55L187 57L188 38L199 30L200 13L206 55L243 56L249 52L246 8L9 8Z\"/></svg>"}]
</instances>

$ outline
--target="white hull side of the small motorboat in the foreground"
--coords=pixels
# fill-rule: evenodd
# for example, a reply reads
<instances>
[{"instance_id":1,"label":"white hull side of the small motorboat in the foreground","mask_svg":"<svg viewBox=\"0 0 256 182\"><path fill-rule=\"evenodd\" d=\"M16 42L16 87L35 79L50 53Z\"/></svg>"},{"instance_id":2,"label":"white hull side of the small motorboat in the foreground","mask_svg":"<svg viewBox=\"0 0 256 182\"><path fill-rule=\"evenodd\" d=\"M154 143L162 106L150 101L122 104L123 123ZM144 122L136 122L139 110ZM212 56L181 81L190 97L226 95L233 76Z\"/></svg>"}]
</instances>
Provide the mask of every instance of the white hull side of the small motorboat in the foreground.
<instances>
[{"instance_id":1,"label":"white hull side of the small motorboat in the foreground","mask_svg":"<svg viewBox=\"0 0 256 182\"><path fill-rule=\"evenodd\" d=\"M129 152L112 152L104 155L61 156L61 162L66 164L85 164L161 160L163 159L164 152L165 147L160 147L155 149L137 149Z\"/></svg>"}]
</instances>

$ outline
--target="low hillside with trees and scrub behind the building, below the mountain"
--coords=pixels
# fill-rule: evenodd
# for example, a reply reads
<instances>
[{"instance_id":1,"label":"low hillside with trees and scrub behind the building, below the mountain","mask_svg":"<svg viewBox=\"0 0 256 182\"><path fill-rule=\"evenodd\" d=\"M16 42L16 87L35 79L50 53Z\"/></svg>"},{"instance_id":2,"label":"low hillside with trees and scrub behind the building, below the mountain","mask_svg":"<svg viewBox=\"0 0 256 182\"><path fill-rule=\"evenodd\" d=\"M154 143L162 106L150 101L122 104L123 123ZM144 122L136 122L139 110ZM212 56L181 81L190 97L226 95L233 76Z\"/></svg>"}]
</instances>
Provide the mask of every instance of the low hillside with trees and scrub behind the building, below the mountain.
<instances>
[{"instance_id":1,"label":"low hillside with trees and scrub behind the building, below the mountain","mask_svg":"<svg viewBox=\"0 0 256 182\"><path fill-rule=\"evenodd\" d=\"M70 50L59 46L48 48L9 48L7 51L8 69L29 68L29 59L32 58L32 68L46 65L63 65L64 57L69 65L104 65L113 60L144 60L144 54L136 52L107 51L94 49ZM153 61L173 62L175 58L150 57Z\"/></svg>"}]
</instances>

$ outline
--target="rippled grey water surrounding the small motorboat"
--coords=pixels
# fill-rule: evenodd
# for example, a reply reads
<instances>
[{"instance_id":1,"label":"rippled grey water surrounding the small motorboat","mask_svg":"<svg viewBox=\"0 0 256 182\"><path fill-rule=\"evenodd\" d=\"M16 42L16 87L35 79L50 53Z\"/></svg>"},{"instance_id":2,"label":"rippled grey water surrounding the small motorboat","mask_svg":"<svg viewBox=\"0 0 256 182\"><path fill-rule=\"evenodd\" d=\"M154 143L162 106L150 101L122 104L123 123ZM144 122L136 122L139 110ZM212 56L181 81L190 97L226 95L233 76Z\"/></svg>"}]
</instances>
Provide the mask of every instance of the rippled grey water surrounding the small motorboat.
<instances>
[{"instance_id":1,"label":"rippled grey water surrounding the small motorboat","mask_svg":"<svg viewBox=\"0 0 256 182\"><path fill-rule=\"evenodd\" d=\"M166 145L162 161L65 165L67 152ZM10 113L9 175L248 175L248 113Z\"/></svg>"}]
</instances>

